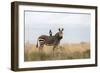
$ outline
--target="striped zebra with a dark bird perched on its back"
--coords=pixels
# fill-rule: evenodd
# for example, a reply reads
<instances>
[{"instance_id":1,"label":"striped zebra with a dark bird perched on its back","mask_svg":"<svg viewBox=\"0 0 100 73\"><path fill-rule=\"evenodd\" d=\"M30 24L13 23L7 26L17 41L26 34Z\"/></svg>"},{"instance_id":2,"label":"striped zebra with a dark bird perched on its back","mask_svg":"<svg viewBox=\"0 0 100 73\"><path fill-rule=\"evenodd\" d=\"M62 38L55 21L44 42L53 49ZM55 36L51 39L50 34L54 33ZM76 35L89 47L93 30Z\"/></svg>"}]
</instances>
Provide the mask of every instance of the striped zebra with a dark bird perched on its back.
<instances>
[{"instance_id":1,"label":"striped zebra with a dark bird perched on its back","mask_svg":"<svg viewBox=\"0 0 100 73\"><path fill-rule=\"evenodd\" d=\"M55 48L60 44L60 41L63 38L63 30L64 29L59 28L58 30L59 31L55 35L52 35L52 32L50 30L49 36L48 35L39 36L36 47L39 48L39 50L41 51L43 49L44 45L53 46L53 52L54 52Z\"/></svg>"}]
</instances>

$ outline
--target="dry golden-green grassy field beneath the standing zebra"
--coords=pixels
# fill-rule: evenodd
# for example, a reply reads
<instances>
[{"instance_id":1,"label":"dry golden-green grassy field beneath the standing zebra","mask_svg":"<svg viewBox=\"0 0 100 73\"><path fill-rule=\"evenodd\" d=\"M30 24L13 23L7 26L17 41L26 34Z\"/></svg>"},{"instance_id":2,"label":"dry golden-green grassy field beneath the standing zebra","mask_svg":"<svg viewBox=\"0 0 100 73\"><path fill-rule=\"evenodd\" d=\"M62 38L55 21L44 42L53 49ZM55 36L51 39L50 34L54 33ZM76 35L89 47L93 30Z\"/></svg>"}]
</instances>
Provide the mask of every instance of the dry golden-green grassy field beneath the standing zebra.
<instances>
[{"instance_id":1,"label":"dry golden-green grassy field beneath the standing zebra","mask_svg":"<svg viewBox=\"0 0 100 73\"><path fill-rule=\"evenodd\" d=\"M65 59L86 59L90 58L90 44L81 42L77 44L61 44L53 54L53 46L44 46L40 53L34 44L25 44L24 61L45 61Z\"/></svg>"}]
</instances>

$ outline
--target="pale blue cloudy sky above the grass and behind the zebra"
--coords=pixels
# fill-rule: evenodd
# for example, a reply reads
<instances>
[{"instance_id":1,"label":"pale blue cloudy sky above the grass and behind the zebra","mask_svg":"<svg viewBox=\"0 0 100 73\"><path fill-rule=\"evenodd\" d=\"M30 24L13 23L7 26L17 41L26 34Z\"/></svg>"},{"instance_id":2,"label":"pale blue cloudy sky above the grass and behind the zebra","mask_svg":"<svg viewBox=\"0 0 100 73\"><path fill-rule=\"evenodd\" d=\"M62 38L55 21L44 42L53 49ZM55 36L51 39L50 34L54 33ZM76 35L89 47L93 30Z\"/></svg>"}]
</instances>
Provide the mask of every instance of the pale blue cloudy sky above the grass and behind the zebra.
<instances>
[{"instance_id":1,"label":"pale blue cloudy sky above the grass and behind the zebra","mask_svg":"<svg viewBox=\"0 0 100 73\"><path fill-rule=\"evenodd\" d=\"M58 28L64 28L61 43L90 41L90 14L25 11L25 42L36 44L40 35L53 35Z\"/></svg>"}]
</instances>

